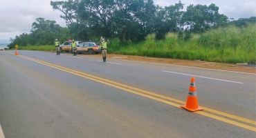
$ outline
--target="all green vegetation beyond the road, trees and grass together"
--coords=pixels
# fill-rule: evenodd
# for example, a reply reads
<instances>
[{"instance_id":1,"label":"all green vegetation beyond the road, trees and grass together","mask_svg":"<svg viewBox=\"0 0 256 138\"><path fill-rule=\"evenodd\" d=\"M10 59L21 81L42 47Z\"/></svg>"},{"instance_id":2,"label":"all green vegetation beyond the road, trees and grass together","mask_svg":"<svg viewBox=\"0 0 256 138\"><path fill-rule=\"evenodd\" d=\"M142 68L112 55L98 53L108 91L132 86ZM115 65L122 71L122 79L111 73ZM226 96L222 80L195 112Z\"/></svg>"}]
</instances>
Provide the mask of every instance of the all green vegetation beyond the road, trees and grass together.
<instances>
[{"instance_id":1,"label":"all green vegetation beyond the road, trees and grass together","mask_svg":"<svg viewBox=\"0 0 256 138\"><path fill-rule=\"evenodd\" d=\"M95 4L97 3L97 4ZM164 8L152 0L51 1L66 28L37 18L30 34L10 38L8 48L55 50L54 40L109 39L109 53L172 59L255 63L256 17L229 21L214 3L179 1ZM231 19L233 20L233 19Z\"/></svg>"}]
</instances>

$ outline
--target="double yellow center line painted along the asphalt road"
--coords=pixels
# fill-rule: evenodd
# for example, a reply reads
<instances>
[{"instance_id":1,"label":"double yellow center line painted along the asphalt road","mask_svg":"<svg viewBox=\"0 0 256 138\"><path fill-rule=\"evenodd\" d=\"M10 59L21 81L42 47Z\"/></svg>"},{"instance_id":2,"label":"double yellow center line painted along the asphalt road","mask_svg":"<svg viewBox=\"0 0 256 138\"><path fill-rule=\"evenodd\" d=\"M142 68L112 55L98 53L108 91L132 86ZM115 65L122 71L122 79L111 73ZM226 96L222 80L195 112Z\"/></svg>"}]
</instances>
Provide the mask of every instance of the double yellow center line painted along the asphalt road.
<instances>
[{"instance_id":1,"label":"double yellow center line painted along the asphalt road","mask_svg":"<svg viewBox=\"0 0 256 138\"><path fill-rule=\"evenodd\" d=\"M170 97L165 97L165 96L163 96L163 95L158 95L158 94L156 94L156 93L148 92L148 91L146 91L146 90L140 90L140 89L138 89L138 88L134 88L134 87L131 87L131 86L126 86L126 85L124 85L124 84L122 84L122 83L118 83L118 82L115 82L115 81L110 81L110 80L108 80L108 79L103 79L103 78L100 78L100 77L95 77L95 76L93 76L93 75L89 75L89 74L86 74L86 73L84 73L84 72L79 72L79 71L77 71L77 70L72 70L72 69L70 69L70 68L64 68L64 67L62 67L62 66L57 66L57 65L54 65L54 64L52 64L52 63L47 63L47 62L45 62L45 61L40 61L40 60L38 60L38 59L32 59L32 58L30 58L30 57L25 57L25 56L21 56L21 55L19 55L19 57L23 57L23 58L25 58L25 59L29 59L29 60L35 61L35 62L37 62L37 63L42 63L42 64L44 64L44 65L46 65L46 66L50 66L50 67L52 67L52 68L56 68L56 69L62 70L62 71L64 71L64 72L69 72L69 73L71 73L71 74L73 74L73 75L77 75L77 76L80 76L80 77L84 77L84 78L86 78L86 79L91 79L91 80L93 80L93 81L98 81L98 82L100 82L100 83L104 83L104 84L106 84L106 85L108 85L108 86L112 86L112 87L115 87L115 88L119 88L119 89L125 90L125 91L127 91L127 92L132 92L132 93L134 93L134 94L136 94L136 95L140 95L140 96L143 96L143 97L147 97L147 98L149 98L149 99L154 99L154 100L156 100L156 101L161 101L161 102L163 102L163 103L167 103L167 104L169 104L169 105L172 105L172 106L175 106L175 107L178 107L178 108L181 108L181 105L179 105L179 104L177 104L177 103L185 104L184 101L180 101L180 100L178 100L178 99L173 99L173 98L170 98ZM138 92L136 92L136 91L134 91L134 90L136 90L136 91L138 91ZM143 93L141 93L141 92L143 92ZM175 101L176 103L172 103L172 102L170 102L170 101L166 101L165 99L170 100L170 101ZM255 121L252 121L252 120L249 120L249 119L244 119L244 118L242 118L242 117L237 117L237 116L235 116L235 115L230 115L230 114L227 114L227 113L225 113L225 112L220 112L220 111L217 111L217 110L212 110L212 109L210 109L210 108L205 108L205 107L203 107L203 108L204 108L205 111L212 112L212 113L217 114L217 115L222 115L222 116L224 116L224 117L229 117L229 118L231 118L231 119L237 119L237 120L239 120L239 121L244 121L244 122L246 122L246 123L248 123L248 124L256 125L256 122L255 122ZM237 121L232 121L232 120L230 120L230 119L225 119L225 118L223 118L223 117L218 117L218 116L216 116L216 115L211 115L211 114L209 114L209 113L207 113L207 112L203 112L203 111L199 111L199 112L195 112L195 113L198 113L198 114L200 114L200 115L204 115L204 116L206 116L206 117L210 117L210 118L213 118L213 119L217 119L217 120L219 120L219 121L223 121L223 122L226 122L226 123L228 123L228 124L232 124L232 125L235 125L235 126L239 126L239 127L241 127L241 128L246 128L246 129L248 129L248 130L253 130L253 131L256 132L256 128L255 128L255 127L248 126L248 125L245 125L245 124L241 124L241 123L239 123L239 122L237 122Z\"/></svg>"}]
</instances>

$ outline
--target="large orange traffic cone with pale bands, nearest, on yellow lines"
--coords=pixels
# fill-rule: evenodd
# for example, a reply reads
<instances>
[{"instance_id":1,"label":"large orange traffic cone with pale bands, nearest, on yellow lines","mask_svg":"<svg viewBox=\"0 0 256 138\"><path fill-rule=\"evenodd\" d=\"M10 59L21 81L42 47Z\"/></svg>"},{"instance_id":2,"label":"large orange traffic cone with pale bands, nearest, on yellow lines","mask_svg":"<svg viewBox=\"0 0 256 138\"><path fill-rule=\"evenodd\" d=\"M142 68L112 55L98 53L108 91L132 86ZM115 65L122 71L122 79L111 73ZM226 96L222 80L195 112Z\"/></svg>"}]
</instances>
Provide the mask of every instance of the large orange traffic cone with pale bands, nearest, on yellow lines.
<instances>
[{"instance_id":1,"label":"large orange traffic cone with pale bands, nearest, on yellow lines","mask_svg":"<svg viewBox=\"0 0 256 138\"><path fill-rule=\"evenodd\" d=\"M190 83L190 88L189 88L189 92L188 92L187 103L181 107L185 108L191 112L194 112L196 110L203 110L203 108L198 106L198 101L197 101L197 97L196 97L196 85L195 85L194 77L191 77L191 83Z\"/></svg>"}]
</instances>

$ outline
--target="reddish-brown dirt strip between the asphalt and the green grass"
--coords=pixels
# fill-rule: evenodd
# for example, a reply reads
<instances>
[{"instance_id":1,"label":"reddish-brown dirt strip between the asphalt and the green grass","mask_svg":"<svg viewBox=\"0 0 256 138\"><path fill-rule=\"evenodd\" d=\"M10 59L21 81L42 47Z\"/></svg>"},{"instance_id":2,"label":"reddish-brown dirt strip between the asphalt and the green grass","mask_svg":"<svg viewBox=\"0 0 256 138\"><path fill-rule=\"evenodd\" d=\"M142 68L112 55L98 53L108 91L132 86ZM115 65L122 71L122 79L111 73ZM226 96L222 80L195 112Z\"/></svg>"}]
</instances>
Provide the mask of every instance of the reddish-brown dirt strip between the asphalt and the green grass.
<instances>
[{"instance_id":1,"label":"reddish-brown dirt strip between the asphalt and the green grass","mask_svg":"<svg viewBox=\"0 0 256 138\"><path fill-rule=\"evenodd\" d=\"M55 51L53 51L55 52ZM70 54L70 52L62 52L62 54ZM82 54L90 57L102 57L101 54L98 55L88 55ZM77 55L79 56L79 55ZM256 74L256 67L248 65L237 65L235 63L217 63L217 62L208 62L208 61L190 61L182 59L165 59L165 58L155 58L155 57L140 57L140 56L130 56L130 55L116 55L116 54L107 54L107 59L119 59L119 60L129 60L129 61L141 61L149 63L163 63L176 66L190 66L196 68L209 68L215 70L228 70L235 72L247 72Z\"/></svg>"}]
</instances>

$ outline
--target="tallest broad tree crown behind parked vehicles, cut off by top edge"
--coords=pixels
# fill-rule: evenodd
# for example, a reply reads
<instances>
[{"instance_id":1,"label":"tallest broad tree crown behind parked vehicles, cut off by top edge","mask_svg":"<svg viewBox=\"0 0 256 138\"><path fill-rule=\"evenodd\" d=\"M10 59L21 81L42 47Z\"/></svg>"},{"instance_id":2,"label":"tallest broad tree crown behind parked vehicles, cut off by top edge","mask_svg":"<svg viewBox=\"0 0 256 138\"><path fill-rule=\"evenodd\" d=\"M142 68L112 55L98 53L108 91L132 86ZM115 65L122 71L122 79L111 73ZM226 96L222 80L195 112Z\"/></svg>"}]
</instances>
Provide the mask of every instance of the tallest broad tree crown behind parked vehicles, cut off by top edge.
<instances>
[{"instance_id":1,"label":"tallest broad tree crown behind parked vehicles, cut off by top edge","mask_svg":"<svg viewBox=\"0 0 256 138\"><path fill-rule=\"evenodd\" d=\"M83 35L90 37L120 34L124 41L127 39L128 26L131 29L137 29L133 27L139 25L145 26L143 23L149 23L147 19L150 20L155 11L152 0L51 1L51 6L64 13L61 17L68 23L68 29L75 34L83 34L80 30L86 31ZM124 19L128 19L130 23L125 23Z\"/></svg>"}]
</instances>

